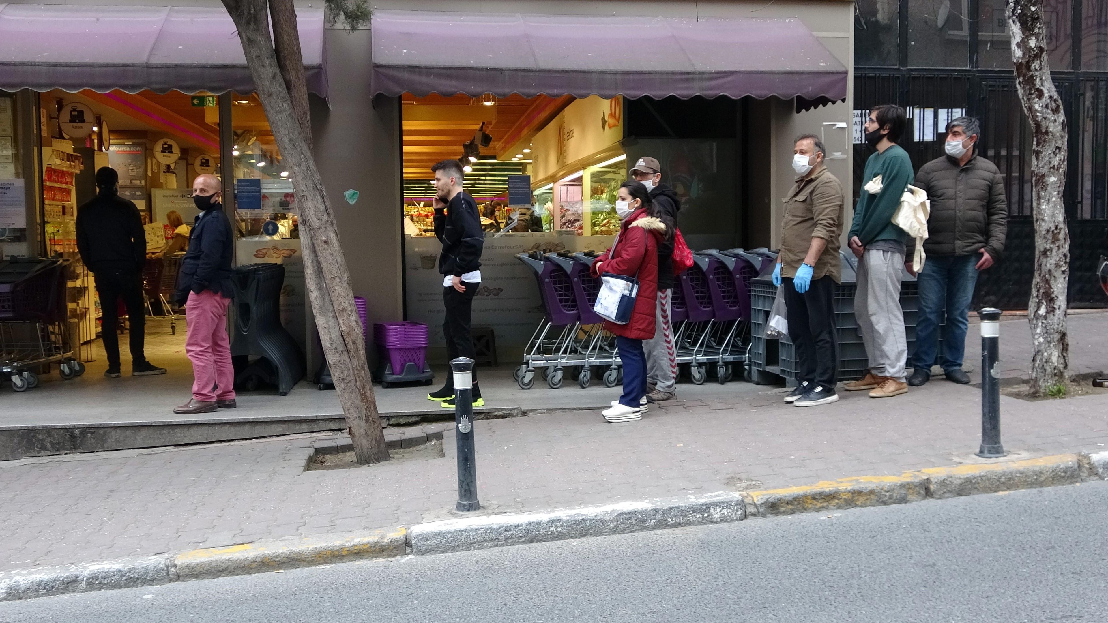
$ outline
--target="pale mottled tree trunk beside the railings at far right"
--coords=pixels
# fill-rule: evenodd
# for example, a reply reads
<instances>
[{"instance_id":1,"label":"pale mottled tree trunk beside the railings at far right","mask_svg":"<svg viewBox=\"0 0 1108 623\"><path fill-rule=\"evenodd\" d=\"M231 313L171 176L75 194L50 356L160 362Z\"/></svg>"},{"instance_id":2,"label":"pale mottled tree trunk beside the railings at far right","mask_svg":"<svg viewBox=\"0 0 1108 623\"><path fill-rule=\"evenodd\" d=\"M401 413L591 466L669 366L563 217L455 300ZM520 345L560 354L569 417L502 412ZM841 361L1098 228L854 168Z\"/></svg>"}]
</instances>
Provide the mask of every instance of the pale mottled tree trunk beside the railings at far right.
<instances>
[{"instance_id":1,"label":"pale mottled tree trunk beside the railings at far right","mask_svg":"<svg viewBox=\"0 0 1108 623\"><path fill-rule=\"evenodd\" d=\"M1035 276L1028 302L1034 396L1067 380L1066 333L1069 231L1066 228L1066 115L1050 79L1043 0L1008 0L1012 60L1019 101L1032 125L1032 210L1035 216Z\"/></svg>"}]
</instances>

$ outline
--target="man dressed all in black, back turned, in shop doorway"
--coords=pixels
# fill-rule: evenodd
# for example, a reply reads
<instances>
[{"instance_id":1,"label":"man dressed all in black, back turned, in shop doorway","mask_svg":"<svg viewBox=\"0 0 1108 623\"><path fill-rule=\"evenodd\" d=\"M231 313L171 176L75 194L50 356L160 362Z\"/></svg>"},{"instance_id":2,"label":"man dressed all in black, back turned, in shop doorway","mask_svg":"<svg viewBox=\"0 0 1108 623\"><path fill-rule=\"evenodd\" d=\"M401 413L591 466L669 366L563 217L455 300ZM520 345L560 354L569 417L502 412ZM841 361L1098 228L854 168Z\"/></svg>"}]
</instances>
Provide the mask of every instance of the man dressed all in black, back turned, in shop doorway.
<instances>
[{"instance_id":1,"label":"man dressed all in black, back turned, in shop doorway","mask_svg":"<svg viewBox=\"0 0 1108 623\"><path fill-rule=\"evenodd\" d=\"M142 268L146 261L146 232L135 204L119 195L120 175L110 166L96 171L96 196L76 211L76 248L96 279L100 295L101 337L107 355L105 377L119 378L119 300L131 321L131 375L164 375L146 360L146 306L142 296Z\"/></svg>"}]
</instances>

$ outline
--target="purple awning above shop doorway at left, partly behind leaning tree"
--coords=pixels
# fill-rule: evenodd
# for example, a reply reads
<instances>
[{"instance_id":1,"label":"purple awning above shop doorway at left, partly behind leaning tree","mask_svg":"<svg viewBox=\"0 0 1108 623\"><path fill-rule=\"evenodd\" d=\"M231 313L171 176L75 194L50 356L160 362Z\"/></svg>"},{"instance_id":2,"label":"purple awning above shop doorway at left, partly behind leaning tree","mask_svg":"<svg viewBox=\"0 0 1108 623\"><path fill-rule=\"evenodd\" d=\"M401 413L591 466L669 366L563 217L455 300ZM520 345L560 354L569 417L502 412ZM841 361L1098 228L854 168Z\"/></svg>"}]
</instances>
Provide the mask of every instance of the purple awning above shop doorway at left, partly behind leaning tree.
<instances>
[{"instance_id":1,"label":"purple awning above shop doorway at left, partly behind leaning tree","mask_svg":"<svg viewBox=\"0 0 1108 623\"><path fill-rule=\"evenodd\" d=\"M297 11L308 90L327 95L324 12ZM0 4L0 89L250 93L222 8Z\"/></svg>"}]
</instances>

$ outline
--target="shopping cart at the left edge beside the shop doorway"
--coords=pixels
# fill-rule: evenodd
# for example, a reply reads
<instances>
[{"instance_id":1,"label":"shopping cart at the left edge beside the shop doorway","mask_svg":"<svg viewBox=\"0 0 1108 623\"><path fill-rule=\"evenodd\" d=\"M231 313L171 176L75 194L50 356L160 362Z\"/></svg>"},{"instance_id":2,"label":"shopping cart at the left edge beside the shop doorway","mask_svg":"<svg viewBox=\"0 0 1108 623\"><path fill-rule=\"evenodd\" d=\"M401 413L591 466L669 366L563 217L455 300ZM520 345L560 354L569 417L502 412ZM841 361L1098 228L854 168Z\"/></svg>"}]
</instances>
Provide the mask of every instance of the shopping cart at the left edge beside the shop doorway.
<instances>
[{"instance_id":1,"label":"shopping cart at the left edge beside the shop doorway","mask_svg":"<svg viewBox=\"0 0 1108 623\"><path fill-rule=\"evenodd\" d=\"M38 386L38 374L52 364L66 380L84 374L84 364L73 358L69 335L68 264L0 262L0 378L16 391Z\"/></svg>"}]
</instances>

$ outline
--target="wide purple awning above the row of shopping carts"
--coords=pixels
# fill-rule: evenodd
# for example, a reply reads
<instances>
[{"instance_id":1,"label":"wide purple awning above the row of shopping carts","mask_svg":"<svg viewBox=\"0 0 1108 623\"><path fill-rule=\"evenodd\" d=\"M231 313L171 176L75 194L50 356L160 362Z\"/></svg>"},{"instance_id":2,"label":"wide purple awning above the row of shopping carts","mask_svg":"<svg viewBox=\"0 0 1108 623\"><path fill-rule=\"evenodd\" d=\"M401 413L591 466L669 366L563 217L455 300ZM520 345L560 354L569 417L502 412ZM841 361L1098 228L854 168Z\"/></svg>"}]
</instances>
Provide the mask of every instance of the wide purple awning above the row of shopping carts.
<instances>
[{"instance_id":1,"label":"wide purple awning above the row of shopping carts","mask_svg":"<svg viewBox=\"0 0 1108 623\"><path fill-rule=\"evenodd\" d=\"M796 19L373 11L373 93L847 96Z\"/></svg>"}]
</instances>

